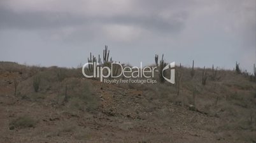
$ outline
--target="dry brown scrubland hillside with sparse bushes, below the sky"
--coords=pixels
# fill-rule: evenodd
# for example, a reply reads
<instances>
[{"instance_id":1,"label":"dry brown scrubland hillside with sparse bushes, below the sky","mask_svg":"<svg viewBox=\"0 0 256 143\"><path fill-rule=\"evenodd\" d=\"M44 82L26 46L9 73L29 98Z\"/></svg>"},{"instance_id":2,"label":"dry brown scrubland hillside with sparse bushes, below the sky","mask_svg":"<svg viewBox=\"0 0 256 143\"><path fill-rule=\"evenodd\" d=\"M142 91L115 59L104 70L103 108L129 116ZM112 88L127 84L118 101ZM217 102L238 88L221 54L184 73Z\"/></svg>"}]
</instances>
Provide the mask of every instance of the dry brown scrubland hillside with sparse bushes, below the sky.
<instances>
[{"instance_id":1,"label":"dry brown scrubland hillside with sparse bushes, below the sky","mask_svg":"<svg viewBox=\"0 0 256 143\"><path fill-rule=\"evenodd\" d=\"M174 85L159 73L104 84L82 68L0 62L0 142L256 142L255 77L176 67Z\"/></svg>"}]
</instances>

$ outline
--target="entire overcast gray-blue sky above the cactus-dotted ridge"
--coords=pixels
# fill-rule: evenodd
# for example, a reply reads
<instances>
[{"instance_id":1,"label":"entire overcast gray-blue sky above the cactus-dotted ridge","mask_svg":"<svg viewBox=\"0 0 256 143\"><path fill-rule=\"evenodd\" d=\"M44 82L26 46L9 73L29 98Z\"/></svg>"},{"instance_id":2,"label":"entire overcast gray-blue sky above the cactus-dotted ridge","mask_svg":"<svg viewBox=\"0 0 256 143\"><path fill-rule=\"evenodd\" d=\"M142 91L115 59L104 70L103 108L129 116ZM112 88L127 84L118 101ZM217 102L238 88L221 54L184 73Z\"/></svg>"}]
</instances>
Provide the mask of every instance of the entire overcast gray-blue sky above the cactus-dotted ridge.
<instances>
[{"instance_id":1,"label":"entire overcast gray-blue sky above the cactus-dotted ridge","mask_svg":"<svg viewBox=\"0 0 256 143\"><path fill-rule=\"evenodd\" d=\"M76 67L110 48L138 66L255 63L255 0L0 0L0 61Z\"/></svg>"}]
</instances>

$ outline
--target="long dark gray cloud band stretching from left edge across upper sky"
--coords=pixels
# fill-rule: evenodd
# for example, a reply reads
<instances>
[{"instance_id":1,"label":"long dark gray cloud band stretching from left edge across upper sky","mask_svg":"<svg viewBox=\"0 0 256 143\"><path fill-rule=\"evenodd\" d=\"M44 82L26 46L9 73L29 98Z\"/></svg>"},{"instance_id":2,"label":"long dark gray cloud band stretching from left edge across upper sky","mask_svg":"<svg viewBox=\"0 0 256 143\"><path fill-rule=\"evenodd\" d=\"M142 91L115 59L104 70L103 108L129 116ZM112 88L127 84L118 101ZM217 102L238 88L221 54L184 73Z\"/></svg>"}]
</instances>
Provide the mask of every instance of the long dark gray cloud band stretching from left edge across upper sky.
<instances>
[{"instance_id":1,"label":"long dark gray cloud band stretching from left edge across upper sky","mask_svg":"<svg viewBox=\"0 0 256 143\"><path fill-rule=\"evenodd\" d=\"M120 24L145 28L146 30L153 30L153 32L176 33L184 28L187 16L186 11L174 13L166 19L156 14L143 16L127 13L114 16L87 16L54 11L23 11L17 13L11 9L0 7L0 28L47 30L59 27L86 27L95 24Z\"/></svg>"}]
</instances>

